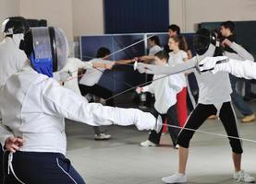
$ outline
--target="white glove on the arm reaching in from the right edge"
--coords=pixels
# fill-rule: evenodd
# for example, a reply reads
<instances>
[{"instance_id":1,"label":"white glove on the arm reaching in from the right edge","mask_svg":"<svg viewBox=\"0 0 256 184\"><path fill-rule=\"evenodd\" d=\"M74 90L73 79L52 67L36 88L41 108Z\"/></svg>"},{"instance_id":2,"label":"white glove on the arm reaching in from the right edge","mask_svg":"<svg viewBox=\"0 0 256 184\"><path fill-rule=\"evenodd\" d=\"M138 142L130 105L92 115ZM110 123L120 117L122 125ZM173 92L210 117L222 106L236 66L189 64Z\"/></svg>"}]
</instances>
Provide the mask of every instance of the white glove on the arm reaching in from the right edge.
<instances>
[{"instance_id":1,"label":"white glove on the arm reaching in from the right edge","mask_svg":"<svg viewBox=\"0 0 256 184\"><path fill-rule=\"evenodd\" d=\"M202 59L201 62L199 63L199 69L201 72L211 71L213 74L215 74L218 72L214 70L215 65L217 63L222 63L226 59L226 56L206 57Z\"/></svg>"}]
</instances>

